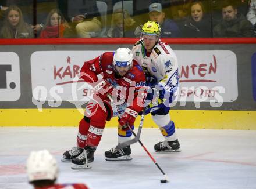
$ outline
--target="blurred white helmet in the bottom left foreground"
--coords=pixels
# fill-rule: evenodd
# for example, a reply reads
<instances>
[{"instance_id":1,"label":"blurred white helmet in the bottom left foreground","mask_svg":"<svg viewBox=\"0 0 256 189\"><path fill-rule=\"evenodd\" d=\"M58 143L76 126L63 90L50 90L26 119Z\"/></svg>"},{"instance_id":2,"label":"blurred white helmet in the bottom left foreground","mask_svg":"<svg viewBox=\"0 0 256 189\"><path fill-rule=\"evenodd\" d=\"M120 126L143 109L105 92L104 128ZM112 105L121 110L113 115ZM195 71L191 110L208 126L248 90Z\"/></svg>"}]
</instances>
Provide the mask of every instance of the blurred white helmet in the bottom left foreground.
<instances>
[{"instance_id":1,"label":"blurred white helmet in the bottom left foreground","mask_svg":"<svg viewBox=\"0 0 256 189\"><path fill-rule=\"evenodd\" d=\"M27 158L29 182L36 180L55 180L58 177L56 159L48 150L32 151Z\"/></svg>"}]
</instances>

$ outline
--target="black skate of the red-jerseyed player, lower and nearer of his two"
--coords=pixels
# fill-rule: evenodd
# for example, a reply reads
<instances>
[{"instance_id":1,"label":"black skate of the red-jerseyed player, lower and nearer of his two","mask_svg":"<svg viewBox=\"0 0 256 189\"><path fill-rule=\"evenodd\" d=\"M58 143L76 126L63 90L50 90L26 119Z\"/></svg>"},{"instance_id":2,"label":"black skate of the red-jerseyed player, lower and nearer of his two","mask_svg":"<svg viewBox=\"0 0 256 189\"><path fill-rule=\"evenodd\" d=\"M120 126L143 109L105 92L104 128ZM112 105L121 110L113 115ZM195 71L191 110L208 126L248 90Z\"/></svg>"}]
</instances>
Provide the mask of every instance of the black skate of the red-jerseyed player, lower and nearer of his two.
<instances>
[{"instance_id":1,"label":"black skate of the red-jerseyed player, lower and nearer of his two","mask_svg":"<svg viewBox=\"0 0 256 189\"><path fill-rule=\"evenodd\" d=\"M94 151L96 148L86 146L83 152L77 156L76 158L72 159L72 166L71 169L89 169L91 168L88 163L94 161Z\"/></svg>"}]
</instances>

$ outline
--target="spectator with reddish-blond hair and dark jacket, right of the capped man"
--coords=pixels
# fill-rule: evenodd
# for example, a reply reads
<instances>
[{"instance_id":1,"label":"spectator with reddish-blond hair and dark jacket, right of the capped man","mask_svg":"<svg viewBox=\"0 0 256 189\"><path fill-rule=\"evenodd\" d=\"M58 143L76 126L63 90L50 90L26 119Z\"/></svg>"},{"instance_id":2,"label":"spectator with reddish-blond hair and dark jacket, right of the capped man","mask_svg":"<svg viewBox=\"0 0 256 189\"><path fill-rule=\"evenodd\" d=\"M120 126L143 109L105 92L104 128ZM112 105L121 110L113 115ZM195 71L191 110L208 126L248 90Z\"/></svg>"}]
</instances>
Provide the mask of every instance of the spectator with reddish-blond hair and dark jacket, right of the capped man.
<instances>
[{"instance_id":1,"label":"spectator with reddish-blond hair and dark jacket, right of the capped man","mask_svg":"<svg viewBox=\"0 0 256 189\"><path fill-rule=\"evenodd\" d=\"M201 2L191 3L190 16L181 27L182 37L209 38L212 37L211 20L205 14Z\"/></svg>"}]
</instances>

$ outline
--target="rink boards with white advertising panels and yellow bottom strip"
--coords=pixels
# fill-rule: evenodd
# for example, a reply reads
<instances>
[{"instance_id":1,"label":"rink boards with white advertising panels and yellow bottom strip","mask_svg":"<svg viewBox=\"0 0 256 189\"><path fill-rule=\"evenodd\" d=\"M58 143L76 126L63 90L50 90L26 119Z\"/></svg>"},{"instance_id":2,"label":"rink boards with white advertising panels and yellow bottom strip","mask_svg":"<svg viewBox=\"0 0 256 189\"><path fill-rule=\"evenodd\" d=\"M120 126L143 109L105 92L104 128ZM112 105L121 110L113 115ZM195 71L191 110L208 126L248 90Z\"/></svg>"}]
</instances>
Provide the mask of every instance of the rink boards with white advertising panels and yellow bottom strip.
<instances>
[{"instance_id":1,"label":"rink boards with white advertising panels and yellow bottom strip","mask_svg":"<svg viewBox=\"0 0 256 189\"><path fill-rule=\"evenodd\" d=\"M83 106L76 102L86 96L77 72L84 61L120 46L132 47L0 45L0 126L77 126ZM256 44L171 47L180 75L170 111L176 128L256 130ZM106 126L116 125L113 119ZM144 127L155 126L147 115Z\"/></svg>"}]
</instances>

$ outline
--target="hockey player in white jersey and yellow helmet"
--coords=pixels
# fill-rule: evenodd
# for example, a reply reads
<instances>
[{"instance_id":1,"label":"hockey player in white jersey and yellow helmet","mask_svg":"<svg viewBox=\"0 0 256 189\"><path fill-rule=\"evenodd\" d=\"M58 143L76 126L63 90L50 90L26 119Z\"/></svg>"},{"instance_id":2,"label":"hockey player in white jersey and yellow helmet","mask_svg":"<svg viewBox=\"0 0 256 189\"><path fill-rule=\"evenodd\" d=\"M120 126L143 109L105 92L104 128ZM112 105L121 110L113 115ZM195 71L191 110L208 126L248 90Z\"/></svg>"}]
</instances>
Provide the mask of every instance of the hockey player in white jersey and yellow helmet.
<instances>
[{"instance_id":1,"label":"hockey player in white jersey and yellow helmet","mask_svg":"<svg viewBox=\"0 0 256 189\"><path fill-rule=\"evenodd\" d=\"M175 123L170 119L170 103L178 93L179 72L176 54L166 43L161 42L161 28L154 21L147 21L141 30L141 39L133 47L133 59L140 64L146 75L147 85L152 93L147 96L146 114L151 113L152 119L159 126L165 141L155 144L157 152L176 152L180 144L176 137ZM118 131L118 142L130 140L131 132ZM126 147L130 149L130 146ZM108 161L130 160L126 157L126 148L112 148L105 152ZM130 154L130 150L129 150Z\"/></svg>"}]
</instances>

